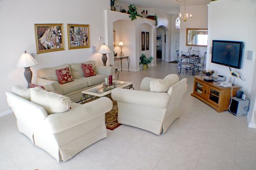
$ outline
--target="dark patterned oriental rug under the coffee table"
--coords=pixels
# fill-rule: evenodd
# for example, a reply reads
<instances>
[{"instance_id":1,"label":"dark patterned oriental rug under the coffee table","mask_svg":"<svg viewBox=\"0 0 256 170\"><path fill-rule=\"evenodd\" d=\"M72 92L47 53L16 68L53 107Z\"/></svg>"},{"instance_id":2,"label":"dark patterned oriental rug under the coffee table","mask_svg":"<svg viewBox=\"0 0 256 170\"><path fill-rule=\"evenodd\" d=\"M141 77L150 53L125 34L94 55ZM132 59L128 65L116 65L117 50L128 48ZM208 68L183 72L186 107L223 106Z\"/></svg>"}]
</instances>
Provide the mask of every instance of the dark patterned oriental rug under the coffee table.
<instances>
[{"instance_id":1,"label":"dark patterned oriental rug under the coffee table","mask_svg":"<svg viewBox=\"0 0 256 170\"><path fill-rule=\"evenodd\" d=\"M105 114L105 124L107 129L113 131L114 129L116 129L118 126L121 125L120 123L118 123L118 102L114 101L111 97L108 97L108 98L113 102L113 108L112 110L110 110ZM92 99L86 102L92 102L94 100L97 100L97 99Z\"/></svg>"}]
</instances>

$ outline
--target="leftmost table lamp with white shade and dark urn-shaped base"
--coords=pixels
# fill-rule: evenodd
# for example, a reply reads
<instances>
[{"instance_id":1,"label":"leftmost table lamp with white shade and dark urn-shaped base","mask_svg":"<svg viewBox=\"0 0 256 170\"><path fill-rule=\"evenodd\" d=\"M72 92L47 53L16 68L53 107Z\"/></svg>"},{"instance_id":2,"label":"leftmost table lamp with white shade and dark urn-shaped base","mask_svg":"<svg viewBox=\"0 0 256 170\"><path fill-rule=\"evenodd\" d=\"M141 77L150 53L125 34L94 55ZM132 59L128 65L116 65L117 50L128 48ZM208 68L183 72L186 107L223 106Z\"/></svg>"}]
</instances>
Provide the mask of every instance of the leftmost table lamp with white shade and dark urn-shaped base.
<instances>
[{"instance_id":1,"label":"leftmost table lamp with white shade and dark urn-shaped base","mask_svg":"<svg viewBox=\"0 0 256 170\"><path fill-rule=\"evenodd\" d=\"M32 71L30 67L37 64L38 62L29 53L27 53L27 51L25 51L23 54L21 54L20 59L16 65L17 68L25 68L24 76L28 83L27 88L29 88L29 84L32 80Z\"/></svg>"}]
</instances>

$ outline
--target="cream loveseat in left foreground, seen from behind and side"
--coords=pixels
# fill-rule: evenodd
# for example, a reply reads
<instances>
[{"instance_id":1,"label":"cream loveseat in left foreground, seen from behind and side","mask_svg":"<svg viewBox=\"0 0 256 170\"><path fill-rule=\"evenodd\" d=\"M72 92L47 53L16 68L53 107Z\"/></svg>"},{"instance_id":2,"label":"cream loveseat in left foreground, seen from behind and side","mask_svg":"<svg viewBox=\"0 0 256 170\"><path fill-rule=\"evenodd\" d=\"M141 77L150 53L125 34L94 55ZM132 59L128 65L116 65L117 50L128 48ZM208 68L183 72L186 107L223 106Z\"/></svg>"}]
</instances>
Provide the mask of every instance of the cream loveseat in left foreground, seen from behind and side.
<instances>
[{"instance_id":1,"label":"cream loveseat in left foreground, seen from behind and side","mask_svg":"<svg viewBox=\"0 0 256 170\"><path fill-rule=\"evenodd\" d=\"M105 113L112 109L112 101L106 97L78 104L39 87L20 86L6 96L19 131L58 162L107 137Z\"/></svg>"}]
</instances>

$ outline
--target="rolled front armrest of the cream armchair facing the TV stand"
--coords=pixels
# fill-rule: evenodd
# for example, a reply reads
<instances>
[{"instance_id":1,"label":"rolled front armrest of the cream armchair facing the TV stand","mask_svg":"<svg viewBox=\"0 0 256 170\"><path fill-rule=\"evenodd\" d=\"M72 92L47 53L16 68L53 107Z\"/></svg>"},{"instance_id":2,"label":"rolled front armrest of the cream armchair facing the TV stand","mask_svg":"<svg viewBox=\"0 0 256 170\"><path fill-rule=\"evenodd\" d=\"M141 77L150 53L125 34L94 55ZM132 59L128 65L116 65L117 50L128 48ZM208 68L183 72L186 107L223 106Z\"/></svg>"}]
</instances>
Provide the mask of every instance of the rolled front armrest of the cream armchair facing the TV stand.
<instances>
[{"instance_id":1,"label":"rolled front armrest of the cream armchair facing the TV stand","mask_svg":"<svg viewBox=\"0 0 256 170\"><path fill-rule=\"evenodd\" d=\"M167 108L170 100L170 95L167 93L155 93L123 88L115 88L111 97L119 102L128 102L157 108Z\"/></svg>"}]
</instances>

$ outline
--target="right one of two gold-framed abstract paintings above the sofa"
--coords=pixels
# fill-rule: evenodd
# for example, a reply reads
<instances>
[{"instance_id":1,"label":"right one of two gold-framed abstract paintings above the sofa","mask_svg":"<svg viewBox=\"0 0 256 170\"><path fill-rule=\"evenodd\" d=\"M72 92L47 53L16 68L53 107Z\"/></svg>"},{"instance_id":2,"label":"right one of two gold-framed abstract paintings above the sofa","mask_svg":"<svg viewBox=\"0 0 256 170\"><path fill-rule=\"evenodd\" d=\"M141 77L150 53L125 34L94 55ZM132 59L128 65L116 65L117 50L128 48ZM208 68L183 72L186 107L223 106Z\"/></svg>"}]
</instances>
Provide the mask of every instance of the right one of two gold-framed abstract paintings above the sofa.
<instances>
[{"instance_id":1,"label":"right one of two gold-framed abstract paintings above the sofa","mask_svg":"<svg viewBox=\"0 0 256 170\"><path fill-rule=\"evenodd\" d=\"M90 25L68 24L68 49L90 48Z\"/></svg>"}]
</instances>

